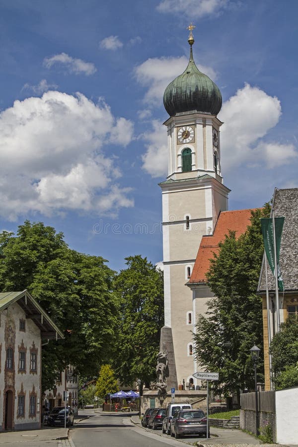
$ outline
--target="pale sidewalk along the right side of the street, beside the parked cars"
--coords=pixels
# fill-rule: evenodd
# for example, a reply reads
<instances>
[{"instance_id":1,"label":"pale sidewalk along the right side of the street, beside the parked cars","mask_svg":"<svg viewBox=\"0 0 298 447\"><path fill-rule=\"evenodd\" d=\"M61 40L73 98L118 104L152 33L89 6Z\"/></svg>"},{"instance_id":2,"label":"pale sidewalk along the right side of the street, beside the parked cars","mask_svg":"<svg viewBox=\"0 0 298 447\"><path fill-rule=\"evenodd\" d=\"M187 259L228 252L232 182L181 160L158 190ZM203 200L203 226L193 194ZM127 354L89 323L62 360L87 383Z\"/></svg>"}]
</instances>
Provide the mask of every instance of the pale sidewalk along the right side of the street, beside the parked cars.
<instances>
[{"instance_id":1,"label":"pale sidewalk along the right side of the street, beside the parked cars","mask_svg":"<svg viewBox=\"0 0 298 447\"><path fill-rule=\"evenodd\" d=\"M139 419L138 415L134 415L131 417L131 421L137 425L142 427L141 419ZM144 430L150 430L144 428ZM151 431L151 430L150 430ZM161 431L154 431L154 434L161 435ZM255 438L253 435L248 435L241 430L236 429L219 429L217 427L210 427L210 439L197 438L197 446L198 447L272 447L272 444L262 444L262 442ZM194 442L195 442L195 438ZM275 446L280 446L279 444L275 444ZM283 446L288 447L288 446Z\"/></svg>"}]
</instances>

